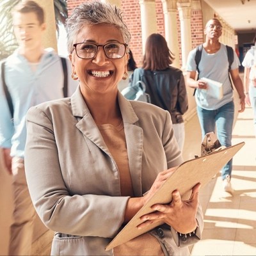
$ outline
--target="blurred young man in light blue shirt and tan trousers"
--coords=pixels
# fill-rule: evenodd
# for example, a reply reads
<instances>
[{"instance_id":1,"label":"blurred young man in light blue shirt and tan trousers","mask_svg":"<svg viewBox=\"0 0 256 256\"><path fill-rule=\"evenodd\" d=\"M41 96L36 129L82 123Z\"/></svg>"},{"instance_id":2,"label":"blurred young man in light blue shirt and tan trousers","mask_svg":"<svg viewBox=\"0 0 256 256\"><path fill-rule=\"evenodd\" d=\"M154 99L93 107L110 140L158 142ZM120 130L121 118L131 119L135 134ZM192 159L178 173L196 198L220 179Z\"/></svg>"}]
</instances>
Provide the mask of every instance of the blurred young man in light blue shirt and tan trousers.
<instances>
[{"instance_id":1,"label":"blurred young man in light blue shirt and tan trousers","mask_svg":"<svg viewBox=\"0 0 256 256\"><path fill-rule=\"evenodd\" d=\"M13 28L19 48L5 61L4 77L13 104L13 118L0 81L0 147L4 164L13 178L13 224L9 255L30 255L35 209L24 172L25 118L28 109L63 97L63 68L53 49L44 49L44 10L33 1L22 1L13 10ZM71 73L67 63L67 72ZM70 76L68 76L70 77ZM68 95L77 87L68 80ZM40 163L38 163L40 164Z\"/></svg>"}]
</instances>

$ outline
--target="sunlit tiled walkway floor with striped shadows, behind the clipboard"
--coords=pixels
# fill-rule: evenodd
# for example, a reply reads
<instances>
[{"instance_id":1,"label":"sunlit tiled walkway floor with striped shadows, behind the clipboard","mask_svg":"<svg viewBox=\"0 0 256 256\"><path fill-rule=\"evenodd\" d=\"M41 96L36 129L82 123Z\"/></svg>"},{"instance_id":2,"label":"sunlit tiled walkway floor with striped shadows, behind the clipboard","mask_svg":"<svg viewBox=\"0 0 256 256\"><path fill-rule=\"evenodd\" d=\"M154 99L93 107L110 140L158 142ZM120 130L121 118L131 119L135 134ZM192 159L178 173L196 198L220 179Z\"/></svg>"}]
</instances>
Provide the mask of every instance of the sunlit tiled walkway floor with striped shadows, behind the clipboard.
<instances>
[{"instance_id":1,"label":"sunlit tiled walkway floor with striped shadows, behind the clipboard","mask_svg":"<svg viewBox=\"0 0 256 256\"><path fill-rule=\"evenodd\" d=\"M200 155L200 126L197 116L186 124L184 159ZM202 240L191 246L191 255L256 255L256 139L252 108L239 113L232 144L245 142L233 158L234 196L223 191L220 173L200 190L204 209Z\"/></svg>"}]
</instances>

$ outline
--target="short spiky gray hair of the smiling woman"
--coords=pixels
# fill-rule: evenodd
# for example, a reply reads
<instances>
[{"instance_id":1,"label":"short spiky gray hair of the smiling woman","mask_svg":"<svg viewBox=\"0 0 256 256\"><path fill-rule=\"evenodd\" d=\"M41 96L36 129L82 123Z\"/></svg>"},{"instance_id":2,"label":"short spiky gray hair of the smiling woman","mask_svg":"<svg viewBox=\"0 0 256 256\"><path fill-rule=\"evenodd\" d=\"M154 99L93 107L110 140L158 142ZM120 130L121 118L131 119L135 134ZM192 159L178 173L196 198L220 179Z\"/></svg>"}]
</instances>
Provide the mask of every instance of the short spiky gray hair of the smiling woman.
<instances>
[{"instance_id":1,"label":"short spiky gray hair of the smiling woman","mask_svg":"<svg viewBox=\"0 0 256 256\"><path fill-rule=\"evenodd\" d=\"M109 3L102 3L99 0L96 0L77 6L66 20L65 28L67 31L68 52L71 53L74 49L74 40L81 29L83 29L84 25L93 26L97 24L109 24L115 26L120 30L125 44L129 44L131 34L122 19L121 10Z\"/></svg>"}]
</instances>

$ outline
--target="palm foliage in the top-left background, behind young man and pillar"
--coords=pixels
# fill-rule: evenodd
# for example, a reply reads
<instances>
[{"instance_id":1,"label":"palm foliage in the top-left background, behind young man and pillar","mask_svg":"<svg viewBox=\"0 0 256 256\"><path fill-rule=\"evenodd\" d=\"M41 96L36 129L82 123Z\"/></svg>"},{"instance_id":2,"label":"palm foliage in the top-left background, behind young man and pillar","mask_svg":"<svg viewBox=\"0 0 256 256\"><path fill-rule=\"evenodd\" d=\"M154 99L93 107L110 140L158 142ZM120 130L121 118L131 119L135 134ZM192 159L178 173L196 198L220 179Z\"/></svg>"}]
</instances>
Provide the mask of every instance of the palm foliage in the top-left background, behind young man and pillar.
<instances>
[{"instance_id":1,"label":"palm foliage in the top-left background, behind young man and pillar","mask_svg":"<svg viewBox=\"0 0 256 256\"><path fill-rule=\"evenodd\" d=\"M0 60L17 49L18 44L13 34L12 9L21 0L0 0ZM47 1L47 0L43 0ZM67 19L67 0L54 0L56 30Z\"/></svg>"}]
</instances>

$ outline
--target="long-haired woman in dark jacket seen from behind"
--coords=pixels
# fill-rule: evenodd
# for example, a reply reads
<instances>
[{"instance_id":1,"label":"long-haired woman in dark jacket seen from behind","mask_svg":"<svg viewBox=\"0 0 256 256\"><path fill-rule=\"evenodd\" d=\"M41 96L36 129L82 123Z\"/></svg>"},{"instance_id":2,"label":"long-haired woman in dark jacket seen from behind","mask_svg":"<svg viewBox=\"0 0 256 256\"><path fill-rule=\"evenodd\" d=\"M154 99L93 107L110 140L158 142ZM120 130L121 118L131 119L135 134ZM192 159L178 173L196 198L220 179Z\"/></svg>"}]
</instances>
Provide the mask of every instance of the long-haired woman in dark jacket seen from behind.
<instances>
[{"instance_id":1,"label":"long-haired woman in dark jacket seen from behind","mask_svg":"<svg viewBox=\"0 0 256 256\"><path fill-rule=\"evenodd\" d=\"M138 68L140 79L146 84L146 93L151 103L170 112L175 138L182 151L185 140L185 127L182 115L188 110L188 96L182 71L171 67L174 56L165 38L160 34L148 36L142 68Z\"/></svg>"}]
</instances>

